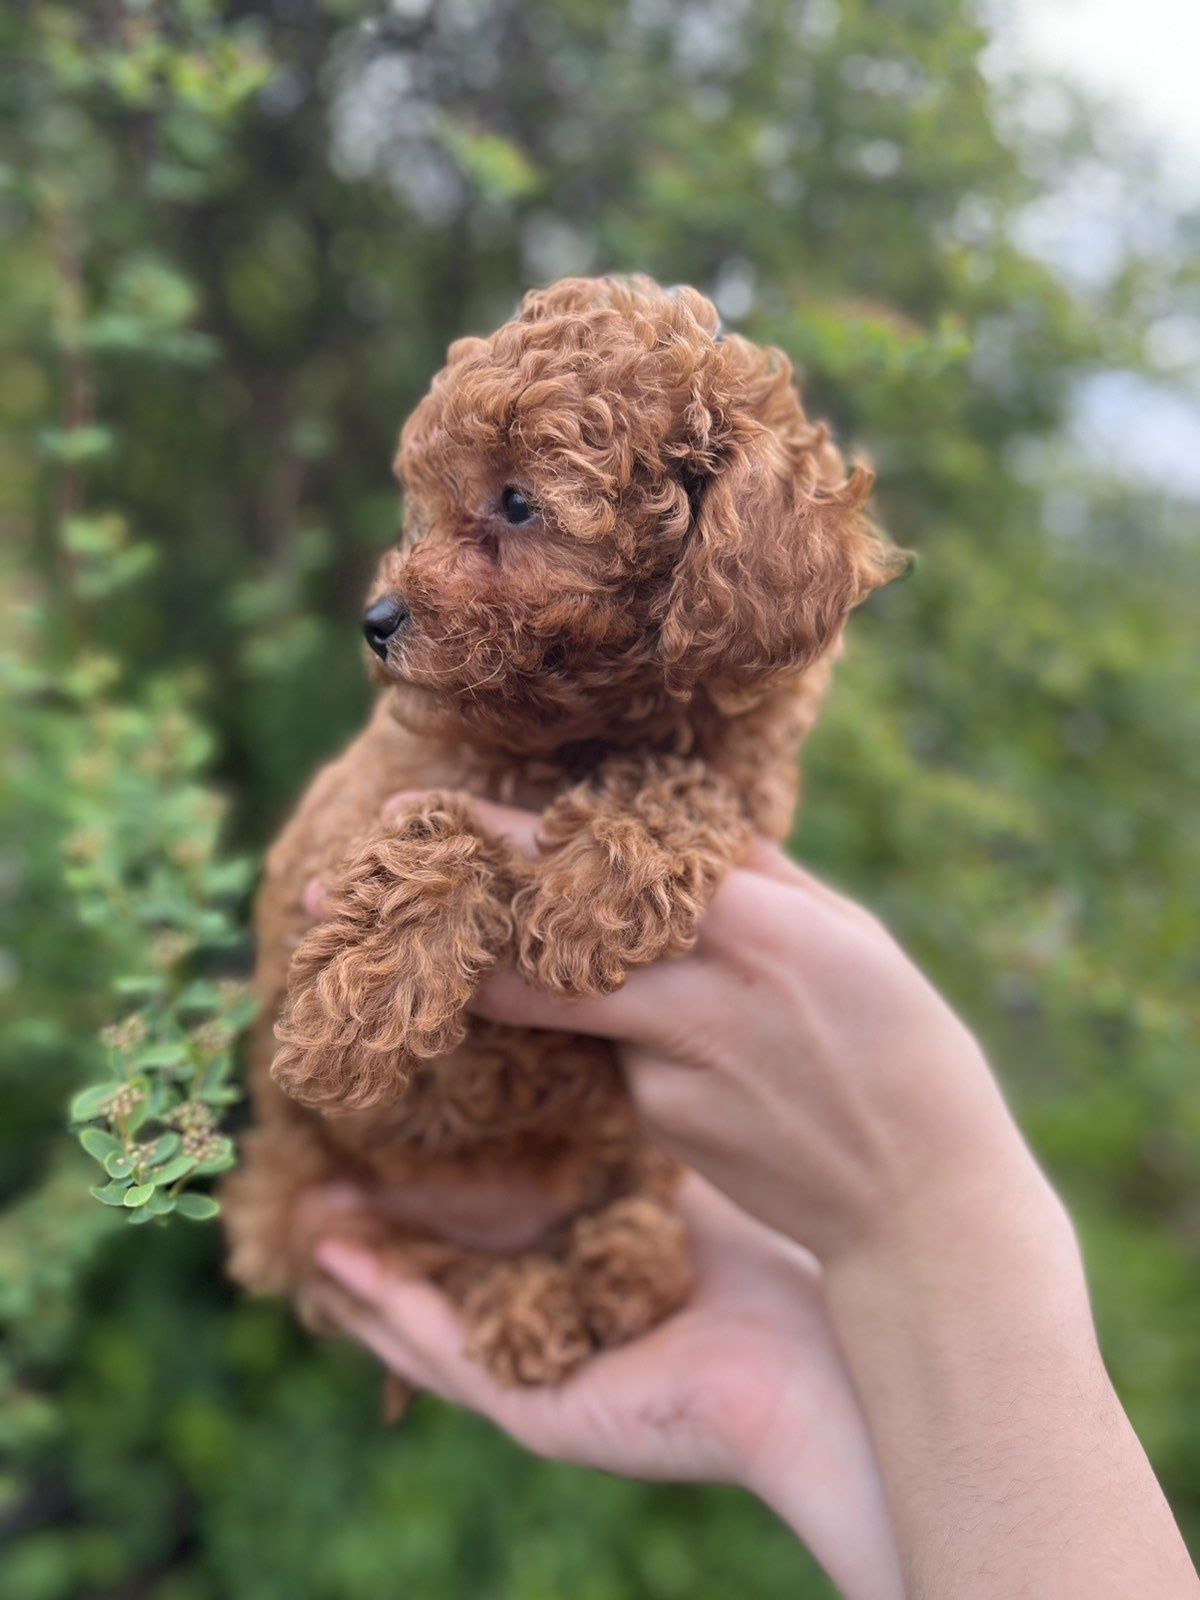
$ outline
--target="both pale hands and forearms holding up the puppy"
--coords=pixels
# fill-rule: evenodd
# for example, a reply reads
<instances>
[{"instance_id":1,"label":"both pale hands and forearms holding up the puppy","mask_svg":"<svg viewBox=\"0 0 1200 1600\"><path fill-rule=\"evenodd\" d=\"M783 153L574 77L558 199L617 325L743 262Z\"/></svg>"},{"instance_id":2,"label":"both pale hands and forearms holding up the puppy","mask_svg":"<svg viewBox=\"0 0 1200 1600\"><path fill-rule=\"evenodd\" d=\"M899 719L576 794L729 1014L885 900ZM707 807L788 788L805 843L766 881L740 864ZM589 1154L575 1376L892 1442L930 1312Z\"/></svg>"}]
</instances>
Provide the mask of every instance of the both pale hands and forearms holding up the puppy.
<instances>
[{"instance_id":1,"label":"both pale hands and forearms holding up the puppy","mask_svg":"<svg viewBox=\"0 0 1200 1600\"><path fill-rule=\"evenodd\" d=\"M475 810L536 850L536 816ZM850 1600L1200 1595L1067 1216L978 1043L867 912L760 845L686 957L584 1002L496 973L475 1006L619 1043L646 1125L701 1174L699 1288L562 1387L501 1389L434 1288L330 1238L330 1314L387 1366L539 1454L749 1488Z\"/></svg>"}]
</instances>

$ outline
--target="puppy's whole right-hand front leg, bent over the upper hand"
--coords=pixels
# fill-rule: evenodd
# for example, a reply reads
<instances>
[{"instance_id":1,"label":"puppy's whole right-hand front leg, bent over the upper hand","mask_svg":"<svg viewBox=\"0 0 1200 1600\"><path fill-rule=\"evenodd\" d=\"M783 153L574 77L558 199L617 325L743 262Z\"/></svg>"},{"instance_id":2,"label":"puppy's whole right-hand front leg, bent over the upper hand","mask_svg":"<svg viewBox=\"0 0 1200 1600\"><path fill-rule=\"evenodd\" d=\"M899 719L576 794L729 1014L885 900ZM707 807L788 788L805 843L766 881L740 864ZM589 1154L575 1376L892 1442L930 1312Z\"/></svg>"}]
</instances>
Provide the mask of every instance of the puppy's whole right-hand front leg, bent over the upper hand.
<instances>
[{"instance_id":1,"label":"puppy's whole right-hand front leg, bent over the upper hand","mask_svg":"<svg viewBox=\"0 0 1200 1600\"><path fill-rule=\"evenodd\" d=\"M605 763L542 818L542 861L514 901L520 970L552 994L597 995L690 949L747 842L736 792L702 762Z\"/></svg>"}]
</instances>

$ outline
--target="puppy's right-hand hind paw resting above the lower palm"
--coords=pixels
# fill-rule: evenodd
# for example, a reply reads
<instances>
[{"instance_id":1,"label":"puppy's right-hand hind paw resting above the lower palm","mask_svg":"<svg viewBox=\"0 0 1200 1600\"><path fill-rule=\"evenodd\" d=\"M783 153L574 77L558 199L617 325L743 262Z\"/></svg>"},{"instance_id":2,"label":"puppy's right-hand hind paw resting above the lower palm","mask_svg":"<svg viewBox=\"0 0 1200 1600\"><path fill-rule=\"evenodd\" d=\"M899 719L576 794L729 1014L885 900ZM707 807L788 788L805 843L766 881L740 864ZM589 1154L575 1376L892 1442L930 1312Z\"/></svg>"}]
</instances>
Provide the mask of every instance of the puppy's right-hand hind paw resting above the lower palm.
<instances>
[{"instance_id":1,"label":"puppy's right-hand hind paw resting above the lower palm","mask_svg":"<svg viewBox=\"0 0 1200 1600\"><path fill-rule=\"evenodd\" d=\"M674 1211L650 1195L626 1195L576 1219L566 1267L598 1346L653 1328L688 1298L688 1237Z\"/></svg>"}]
</instances>

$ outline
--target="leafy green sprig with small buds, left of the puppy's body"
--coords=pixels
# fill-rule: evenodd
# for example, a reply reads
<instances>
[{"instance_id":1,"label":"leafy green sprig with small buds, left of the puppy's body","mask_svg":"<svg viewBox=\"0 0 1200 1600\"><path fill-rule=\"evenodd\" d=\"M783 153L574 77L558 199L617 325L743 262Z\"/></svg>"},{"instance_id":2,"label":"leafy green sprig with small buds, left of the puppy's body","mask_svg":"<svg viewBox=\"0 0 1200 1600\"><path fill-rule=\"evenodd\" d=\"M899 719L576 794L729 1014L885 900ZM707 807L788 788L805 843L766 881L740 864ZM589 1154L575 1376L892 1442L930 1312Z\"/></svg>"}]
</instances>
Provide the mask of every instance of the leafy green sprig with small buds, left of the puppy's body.
<instances>
[{"instance_id":1,"label":"leafy green sprig with small buds, left of the puppy's body","mask_svg":"<svg viewBox=\"0 0 1200 1600\"><path fill-rule=\"evenodd\" d=\"M120 565L109 541L101 554ZM131 1222L174 1210L200 1218L216 1205L187 1186L234 1163L219 1120L240 1098L234 1043L253 1005L245 984L192 974L208 952L242 942L250 864L216 854L222 806L192 779L208 739L178 691L114 706L101 698L106 680L85 658L61 704L37 714L37 736L66 766L64 883L114 968L123 963L112 994L130 1006L102 1030L106 1077L75 1094L70 1120L104 1170L98 1200L128 1208Z\"/></svg>"}]
</instances>

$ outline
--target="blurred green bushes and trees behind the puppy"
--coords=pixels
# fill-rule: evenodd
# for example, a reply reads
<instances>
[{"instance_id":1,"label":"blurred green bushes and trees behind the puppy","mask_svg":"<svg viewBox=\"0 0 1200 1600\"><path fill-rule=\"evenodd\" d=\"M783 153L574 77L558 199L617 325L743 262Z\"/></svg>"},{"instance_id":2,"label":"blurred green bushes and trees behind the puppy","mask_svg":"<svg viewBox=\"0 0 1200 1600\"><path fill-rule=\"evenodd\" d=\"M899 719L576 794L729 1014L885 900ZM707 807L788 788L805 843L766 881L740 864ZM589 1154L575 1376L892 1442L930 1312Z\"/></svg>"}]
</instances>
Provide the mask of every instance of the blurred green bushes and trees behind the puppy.
<instances>
[{"instance_id":1,"label":"blurred green bushes and trees behind the puppy","mask_svg":"<svg viewBox=\"0 0 1200 1600\"><path fill-rule=\"evenodd\" d=\"M363 715L446 341L603 269L782 344L918 552L853 627L795 843L984 1037L1195 1547L1195 502L1080 411L1195 386L1195 214L1102 112L989 78L962 0L38 0L0 38L0 1592L829 1592L733 1491L432 1402L382 1430L365 1360L240 1301L211 1224L114 1224L64 1133L152 931L123 875L190 893L214 794L253 856ZM1130 226L1054 262L1090 182Z\"/></svg>"}]
</instances>

